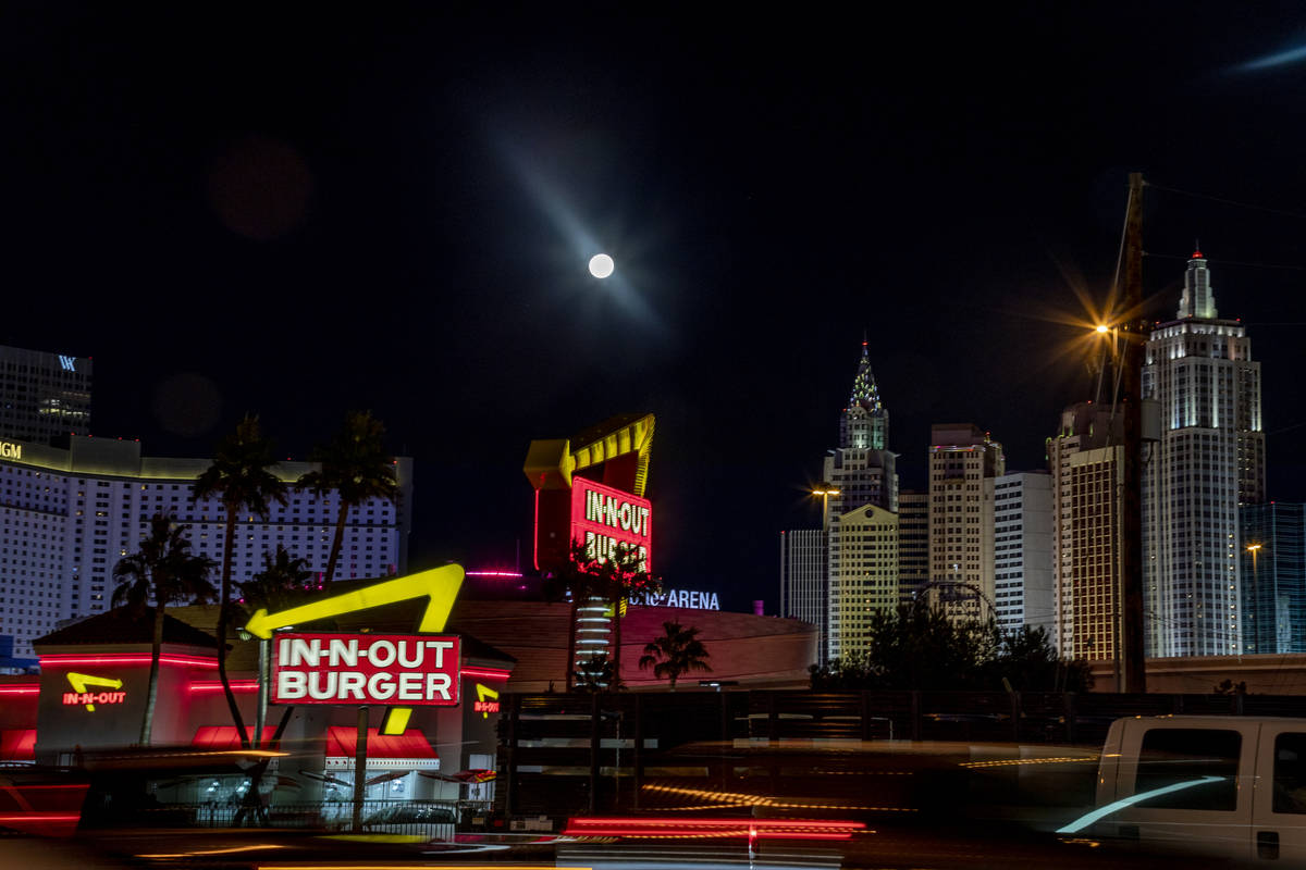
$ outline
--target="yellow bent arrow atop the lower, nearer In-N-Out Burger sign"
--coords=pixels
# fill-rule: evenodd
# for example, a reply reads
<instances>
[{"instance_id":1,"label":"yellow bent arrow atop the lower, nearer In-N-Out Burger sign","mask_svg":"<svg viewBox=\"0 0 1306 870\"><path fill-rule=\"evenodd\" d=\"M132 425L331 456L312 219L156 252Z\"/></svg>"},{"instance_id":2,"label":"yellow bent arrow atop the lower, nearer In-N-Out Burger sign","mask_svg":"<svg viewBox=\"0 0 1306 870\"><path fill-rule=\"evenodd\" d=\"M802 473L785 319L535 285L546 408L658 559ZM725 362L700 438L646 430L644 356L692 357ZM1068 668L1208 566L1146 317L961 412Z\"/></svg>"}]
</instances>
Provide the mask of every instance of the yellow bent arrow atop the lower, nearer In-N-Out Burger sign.
<instances>
[{"instance_id":1,"label":"yellow bent arrow atop the lower, nearer In-N-Out Burger sign","mask_svg":"<svg viewBox=\"0 0 1306 870\"><path fill-rule=\"evenodd\" d=\"M249 622L246 623L246 631L266 640L276 629L285 629L291 625L302 625L316 620L328 620L333 616L354 613L355 610L368 610L385 604L419 599L423 595L428 596L430 600L426 604L426 613L422 614L418 631L443 631L444 623L449 618L449 610L453 609L453 600L458 596L461 586L462 569L460 566L445 565L443 567L432 567L430 571L397 577L393 580L333 595L329 599L302 604L289 610L268 613L260 608L249 617Z\"/></svg>"}]
</instances>

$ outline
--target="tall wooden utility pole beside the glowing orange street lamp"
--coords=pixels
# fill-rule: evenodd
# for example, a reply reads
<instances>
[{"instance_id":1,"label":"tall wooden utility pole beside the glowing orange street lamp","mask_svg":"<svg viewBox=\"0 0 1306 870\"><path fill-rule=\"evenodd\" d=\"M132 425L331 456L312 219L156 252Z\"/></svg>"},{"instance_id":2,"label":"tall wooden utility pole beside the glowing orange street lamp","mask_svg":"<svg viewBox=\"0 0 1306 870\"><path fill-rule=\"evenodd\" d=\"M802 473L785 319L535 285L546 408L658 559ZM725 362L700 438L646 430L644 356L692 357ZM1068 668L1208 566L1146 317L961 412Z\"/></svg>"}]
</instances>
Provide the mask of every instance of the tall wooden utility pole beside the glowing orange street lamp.
<instances>
[{"instance_id":1,"label":"tall wooden utility pole beside the glowing orange street lamp","mask_svg":"<svg viewBox=\"0 0 1306 870\"><path fill-rule=\"evenodd\" d=\"M1121 540L1122 613L1121 655L1124 691L1147 691L1143 626L1143 173L1130 173L1124 217L1124 347L1121 399L1124 410L1124 503Z\"/></svg>"}]
</instances>

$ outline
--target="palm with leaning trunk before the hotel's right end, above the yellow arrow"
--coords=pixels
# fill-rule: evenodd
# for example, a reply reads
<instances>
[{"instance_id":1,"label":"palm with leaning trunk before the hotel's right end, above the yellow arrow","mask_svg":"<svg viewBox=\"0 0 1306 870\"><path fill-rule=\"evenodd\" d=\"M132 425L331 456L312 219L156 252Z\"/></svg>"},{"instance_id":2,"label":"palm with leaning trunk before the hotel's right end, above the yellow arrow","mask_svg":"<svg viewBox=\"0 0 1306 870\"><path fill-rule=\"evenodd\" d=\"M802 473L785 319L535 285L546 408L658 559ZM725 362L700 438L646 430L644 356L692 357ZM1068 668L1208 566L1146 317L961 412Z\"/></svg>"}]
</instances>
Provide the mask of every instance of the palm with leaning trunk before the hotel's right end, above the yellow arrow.
<instances>
[{"instance_id":1,"label":"palm with leaning trunk before the hotel's right end, above the yellow arrow","mask_svg":"<svg viewBox=\"0 0 1306 870\"><path fill-rule=\"evenodd\" d=\"M319 498L336 490L340 510L336 514L336 537L326 561L323 586L330 587L336 578L336 563L345 544L345 520L351 507L368 498L384 498L398 503L398 481L394 479L394 459L385 453L383 438L385 425L371 411L350 411L345 424L325 445L310 457L321 463L299 479L299 485Z\"/></svg>"}]
</instances>

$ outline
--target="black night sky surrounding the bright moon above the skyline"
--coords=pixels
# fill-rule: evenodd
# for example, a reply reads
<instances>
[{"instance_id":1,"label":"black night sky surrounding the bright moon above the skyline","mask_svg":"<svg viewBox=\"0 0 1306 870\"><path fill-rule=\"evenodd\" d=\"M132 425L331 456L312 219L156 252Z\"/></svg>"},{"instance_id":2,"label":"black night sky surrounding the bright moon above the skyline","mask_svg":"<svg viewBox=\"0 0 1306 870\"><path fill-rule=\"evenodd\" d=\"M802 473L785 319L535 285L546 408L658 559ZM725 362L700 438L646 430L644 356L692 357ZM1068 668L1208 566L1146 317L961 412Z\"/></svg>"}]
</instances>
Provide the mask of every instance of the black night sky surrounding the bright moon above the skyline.
<instances>
[{"instance_id":1,"label":"black night sky surrounding the bright moon above the skyline","mask_svg":"<svg viewBox=\"0 0 1306 870\"><path fill-rule=\"evenodd\" d=\"M1141 171L1149 316L1200 240L1306 500L1299 4L268 5L0 10L0 343L93 356L97 436L370 408L413 566L491 567L532 438L652 411L656 569L774 612L863 330L904 487L931 423L1043 467Z\"/></svg>"}]
</instances>

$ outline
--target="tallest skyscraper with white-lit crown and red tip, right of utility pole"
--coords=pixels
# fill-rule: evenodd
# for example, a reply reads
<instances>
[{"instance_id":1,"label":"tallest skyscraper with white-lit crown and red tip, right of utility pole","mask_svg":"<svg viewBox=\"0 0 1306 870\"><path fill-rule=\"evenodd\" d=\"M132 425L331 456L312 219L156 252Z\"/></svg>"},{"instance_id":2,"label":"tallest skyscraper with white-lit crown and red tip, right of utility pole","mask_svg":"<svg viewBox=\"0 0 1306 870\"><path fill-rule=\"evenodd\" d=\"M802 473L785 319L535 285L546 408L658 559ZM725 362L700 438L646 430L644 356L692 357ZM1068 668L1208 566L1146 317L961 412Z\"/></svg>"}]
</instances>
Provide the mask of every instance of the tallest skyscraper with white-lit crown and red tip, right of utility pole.
<instances>
[{"instance_id":1,"label":"tallest skyscraper with white-lit crown and red tip, right of utility pole","mask_svg":"<svg viewBox=\"0 0 1306 870\"><path fill-rule=\"evenodd\" d=\"M1238 506L1266 500L1260 364L1242 323L1218 318L1202 252L1178 318L1148 338L1143 398L1161 423L1143 457L1148 655L1242 652Z\"/></svg>"}]
</instances>

